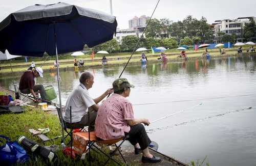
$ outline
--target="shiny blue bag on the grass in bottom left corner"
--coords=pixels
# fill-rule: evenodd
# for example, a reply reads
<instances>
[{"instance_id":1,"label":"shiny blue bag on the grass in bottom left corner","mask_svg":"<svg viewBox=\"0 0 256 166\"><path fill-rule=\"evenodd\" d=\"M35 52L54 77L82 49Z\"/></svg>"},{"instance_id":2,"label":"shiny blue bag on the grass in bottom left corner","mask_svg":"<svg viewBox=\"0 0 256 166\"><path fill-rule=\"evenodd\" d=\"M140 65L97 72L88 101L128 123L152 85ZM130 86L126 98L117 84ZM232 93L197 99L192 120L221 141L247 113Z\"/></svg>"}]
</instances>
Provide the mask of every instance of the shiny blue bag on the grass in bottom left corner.
<instances>
[{"instance_id":1,"label":"shiny blue bag on the grass in bottom left corner","mask_svg":"<svg viewBox=\"0 0 256 166\"><path fill-rule=\"evenodd\" d=\"M15 163L24 163L29 160L27 152L16 141L11 140L4 135L0 135L0 138L6 140L6 144L0 147L0 161L4 165L11 165ZM0 140L0 142L4 143Z\"/></svg>"}]
</instances>

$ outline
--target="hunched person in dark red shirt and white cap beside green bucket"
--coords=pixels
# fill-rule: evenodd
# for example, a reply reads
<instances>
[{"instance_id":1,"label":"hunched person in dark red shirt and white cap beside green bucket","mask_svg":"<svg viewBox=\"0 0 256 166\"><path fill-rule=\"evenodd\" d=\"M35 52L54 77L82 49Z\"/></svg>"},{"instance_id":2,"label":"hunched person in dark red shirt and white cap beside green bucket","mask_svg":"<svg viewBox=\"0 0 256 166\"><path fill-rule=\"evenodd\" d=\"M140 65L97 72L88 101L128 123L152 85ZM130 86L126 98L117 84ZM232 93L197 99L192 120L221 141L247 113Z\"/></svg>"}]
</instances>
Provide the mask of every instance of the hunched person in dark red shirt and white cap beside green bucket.
<instances>
[{"instance_id":1,"label":"hunched person in dark red shirt and white cap beside green bucket","mask_svg":"<svg viewBox=\"0 0 256 166\"><path fill-rule=\"evenodd\" d=\"M35 92L40 93L41 99L47 99L44 86L35 85L35 77L43 77L43 71L40 67L36 67L33 70L25 71L19 80L19 90L24 94L32 94L37 102L40 102Z\"/></svg>"}]
</instances>

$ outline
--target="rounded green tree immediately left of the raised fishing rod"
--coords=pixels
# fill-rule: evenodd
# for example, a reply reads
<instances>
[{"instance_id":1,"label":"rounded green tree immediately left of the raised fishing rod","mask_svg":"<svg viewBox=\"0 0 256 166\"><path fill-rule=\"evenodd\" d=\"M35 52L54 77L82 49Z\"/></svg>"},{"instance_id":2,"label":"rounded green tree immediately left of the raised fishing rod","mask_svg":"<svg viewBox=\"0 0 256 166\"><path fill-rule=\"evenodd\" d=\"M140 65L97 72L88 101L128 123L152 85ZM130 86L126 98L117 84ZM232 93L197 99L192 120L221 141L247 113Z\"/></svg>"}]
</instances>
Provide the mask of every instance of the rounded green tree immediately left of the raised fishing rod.
<instances>
[{"instance_id":1,"label":"rounded green tree immediately left of the raised fishing rod","mask_svg":"<svg viewBox=\"0 0 256 166\"><path fill-rule=\"evenodd\" d=\"M139 38L136 36L125 36L121 40L120 48L122 51L133 51Z\"/></svg>"}]
</instances>

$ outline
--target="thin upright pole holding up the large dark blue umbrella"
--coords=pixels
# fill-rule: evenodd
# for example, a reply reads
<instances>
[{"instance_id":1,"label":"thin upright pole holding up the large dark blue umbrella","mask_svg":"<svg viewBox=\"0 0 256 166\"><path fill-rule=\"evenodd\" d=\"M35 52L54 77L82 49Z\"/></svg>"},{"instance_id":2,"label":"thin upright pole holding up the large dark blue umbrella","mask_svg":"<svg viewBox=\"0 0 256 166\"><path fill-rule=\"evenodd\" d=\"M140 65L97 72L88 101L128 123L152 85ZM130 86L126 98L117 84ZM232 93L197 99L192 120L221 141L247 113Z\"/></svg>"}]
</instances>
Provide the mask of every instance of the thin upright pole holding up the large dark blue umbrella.
<instances>
[{"instance_id":1,"label":"thin upright pole holding up the large dark blue umbrella","mask_svg":"<svg viewBox=\"0 0 256 166\"><path fill-rule=\"evenodd\" d=\"M55 39L55 47L56 47L56 61L58 64L58 49L57 49L57 34L55 31L55 23L54 23L54 39ZM64 122L62 118L62 105L61 105L61 92L60 92L60 80L59 80L59 65L57 65L57 77L58 77L58 91L59 91L59 105L60 105L60 123L61 123L61 134L62 134L62 142L65 144L65 137L64 137Z\"/></svg>"}]
</instances>

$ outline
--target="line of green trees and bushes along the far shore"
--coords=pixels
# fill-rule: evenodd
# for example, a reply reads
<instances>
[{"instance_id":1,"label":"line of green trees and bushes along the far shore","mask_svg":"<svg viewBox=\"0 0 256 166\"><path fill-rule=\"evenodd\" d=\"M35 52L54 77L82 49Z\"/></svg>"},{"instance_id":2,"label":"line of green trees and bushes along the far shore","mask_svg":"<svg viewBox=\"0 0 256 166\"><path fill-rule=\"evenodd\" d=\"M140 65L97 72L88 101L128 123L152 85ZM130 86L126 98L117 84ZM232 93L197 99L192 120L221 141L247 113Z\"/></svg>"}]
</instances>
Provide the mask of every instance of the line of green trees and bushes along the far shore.
<instances>
[{"instance_id":1,"label":"line of green trees and bushes along the far shore","mask_svg":"<svg viewBox=\"0 0 256 166\"><path fill-rule=\"evenodd\" d=\"M256 37L256 25L253 18L245 24L242 36L246 41ZM142 38L138 47L151 48L152 46L163 46L166 48L177 48L178 45L193 45L200 43L213 43L214 41L232 42L237 41L236 34L225 34L218 32L214 35L212 27L207 23L207 19L200 20L187 16L183 21L173 22L168 18L152 19L145 31L145 38ZM118 43L115 39L95 46L93 49L106 50L108 52L133 51L139 40L136 36L126 36Z\"/></svg>"}]
</instances>

